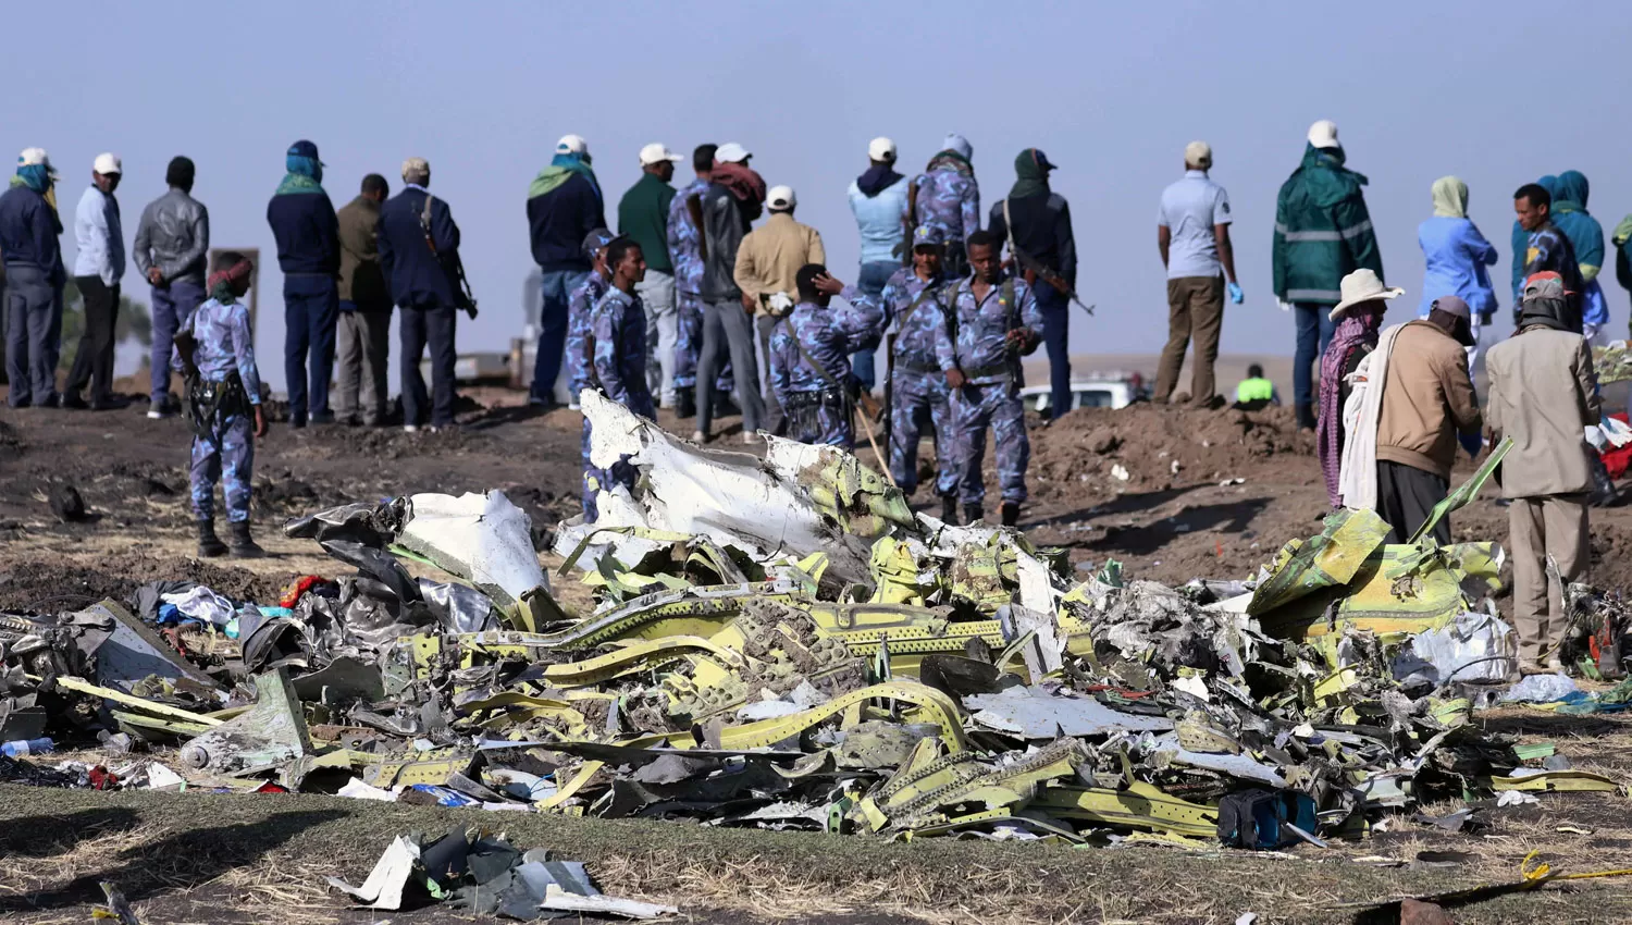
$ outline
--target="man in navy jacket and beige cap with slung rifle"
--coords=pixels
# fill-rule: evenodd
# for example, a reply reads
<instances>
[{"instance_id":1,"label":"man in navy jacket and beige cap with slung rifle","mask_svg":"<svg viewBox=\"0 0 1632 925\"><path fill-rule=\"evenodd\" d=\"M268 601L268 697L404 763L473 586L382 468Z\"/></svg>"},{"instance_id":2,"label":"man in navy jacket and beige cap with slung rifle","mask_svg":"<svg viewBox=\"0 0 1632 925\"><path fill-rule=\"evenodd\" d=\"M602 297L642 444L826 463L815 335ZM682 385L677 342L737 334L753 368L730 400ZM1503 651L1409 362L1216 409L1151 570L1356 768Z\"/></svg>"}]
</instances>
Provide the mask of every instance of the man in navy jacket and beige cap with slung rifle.
<instances>
[{"instance_id":1,"label":"man in navy jacket and beige cap with slung rifle","mask_svg":"<svg viewBox=\"0 0 1632 925\"><path fill-rule=\"evenodd\" d=\"M380 206L380 269L392 300L401 308L403 431L454 424L454 331L465 303L459 289L459 225L447 202L431 196L431 165L403 162L403 191ZM419 357L431 347L431 401L426 401Z\"/></svg>"}]
</instances>

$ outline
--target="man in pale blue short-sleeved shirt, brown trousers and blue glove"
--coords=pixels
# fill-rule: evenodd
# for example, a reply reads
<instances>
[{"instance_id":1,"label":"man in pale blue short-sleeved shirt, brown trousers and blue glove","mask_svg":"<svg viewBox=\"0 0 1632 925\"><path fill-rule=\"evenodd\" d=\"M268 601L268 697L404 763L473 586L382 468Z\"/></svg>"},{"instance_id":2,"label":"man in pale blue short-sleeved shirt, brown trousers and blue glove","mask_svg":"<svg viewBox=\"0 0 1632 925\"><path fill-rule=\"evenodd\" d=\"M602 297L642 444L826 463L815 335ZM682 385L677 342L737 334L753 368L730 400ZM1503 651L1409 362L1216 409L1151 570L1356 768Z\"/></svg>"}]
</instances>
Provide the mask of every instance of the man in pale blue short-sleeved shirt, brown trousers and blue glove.
<instances>
[{"instance_id":1,"label":"man in pale blue short-sleeved shirt, brown trousers and blue glove","mask_svg":"<svg viewBox=\"0 0 1632 925\"><path fill-rule=\"evenodd\" d=\"M1167 346L1155 374L1154 401L1167 403L1185 365L1185 349L1196 341L1196 365L1190 374L1190 401L1213 405L1213 364L1219 359L1224 330L1224 292L1240 305L1235 282L1235 250L1229 241L1229 194L1208 178L1213 147L1185 145L1185 176L1162 191L1155 214L1155 246L1167 268Z\"/></svg>"}]
</instances>

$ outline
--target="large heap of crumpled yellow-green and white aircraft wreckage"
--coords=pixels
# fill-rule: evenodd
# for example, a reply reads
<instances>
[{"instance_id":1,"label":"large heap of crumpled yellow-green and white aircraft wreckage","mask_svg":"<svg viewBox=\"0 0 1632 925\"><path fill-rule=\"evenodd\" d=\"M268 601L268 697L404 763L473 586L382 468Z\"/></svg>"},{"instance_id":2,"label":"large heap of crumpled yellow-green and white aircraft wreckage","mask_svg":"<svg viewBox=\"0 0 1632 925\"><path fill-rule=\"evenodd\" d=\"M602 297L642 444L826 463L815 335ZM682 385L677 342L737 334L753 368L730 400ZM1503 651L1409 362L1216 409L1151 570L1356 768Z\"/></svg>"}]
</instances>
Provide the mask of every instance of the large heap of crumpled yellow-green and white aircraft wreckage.
<instances>
[{"instance_id":1,"label":"large heap of crumpled yellow-green and white aircraft wreckage","mask_svg":"<svg viewBox=\"0 0 1632 925\"><path fill-rule=\"evenodd\" d=\"M842 450L584 411L592 462L638 473L555 533L592 613L557 605L499 493L349 504L286 532L356 573L282 607L160 582L134 613L5 615L5 737L134 744L108 770L137 786L1072 843L1276 847L1441 794L1616 788L1469 721L1513 669L1493 543L1384 545L1342 511L1247 581L1075 581ZM1619 597L1570 600L1578 649L1632 631ZM24 768L72 777L0 759Z\"/></svg>"}]
</instances>

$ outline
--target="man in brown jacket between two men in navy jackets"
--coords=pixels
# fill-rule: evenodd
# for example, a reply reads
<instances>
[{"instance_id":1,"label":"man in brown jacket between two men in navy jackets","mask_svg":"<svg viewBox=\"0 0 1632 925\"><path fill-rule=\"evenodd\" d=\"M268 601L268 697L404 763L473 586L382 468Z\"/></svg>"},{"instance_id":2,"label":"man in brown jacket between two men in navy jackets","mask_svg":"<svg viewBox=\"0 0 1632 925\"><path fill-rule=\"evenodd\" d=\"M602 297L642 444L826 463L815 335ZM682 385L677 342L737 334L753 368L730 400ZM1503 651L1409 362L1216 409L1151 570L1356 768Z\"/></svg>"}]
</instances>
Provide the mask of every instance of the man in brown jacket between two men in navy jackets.
<instances>
[{"instance_id":1,"label":"man in brown jacket between two men in navy jackets","mask_svg":"<svg viewBox=\"0 0 1632 925\"><path fill-rule=\"evenodd\" d=\"M335 377L341 423L379 427L385 423L385 370L392 349L392 297L380 272L380 202L390 193L385 178L362 178L362 193L348 202L339 219L339 333ZM362 392L359 406L357 392ZM359 414L361 413L361 414Z\"/></svg>"}]
</instances>

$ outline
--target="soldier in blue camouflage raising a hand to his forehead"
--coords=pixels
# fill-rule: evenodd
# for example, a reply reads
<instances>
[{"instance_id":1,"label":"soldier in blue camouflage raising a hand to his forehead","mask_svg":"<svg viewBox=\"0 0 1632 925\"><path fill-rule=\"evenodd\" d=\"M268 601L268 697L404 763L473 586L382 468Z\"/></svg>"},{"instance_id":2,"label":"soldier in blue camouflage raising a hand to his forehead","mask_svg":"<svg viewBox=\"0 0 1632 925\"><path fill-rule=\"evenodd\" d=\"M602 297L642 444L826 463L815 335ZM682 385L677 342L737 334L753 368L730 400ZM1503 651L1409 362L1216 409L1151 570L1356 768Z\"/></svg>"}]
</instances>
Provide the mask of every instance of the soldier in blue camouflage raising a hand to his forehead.
<instances>
[{"instance_id":1,"label":"soldier in blue camouflage raising a hand to his forehead","mask_svg":"<svg viewBox=\"0 0 1632 925\"><path fill-rule=\"evenodd\" d=\"M850 449L855 445L850 354L878 346L883 312L819 263L800 268L795 282L800 303L770 336L770 387L787 414L792 439ZM849 307L829 308L834 295Z\"/></svg>"}]
</instances>

